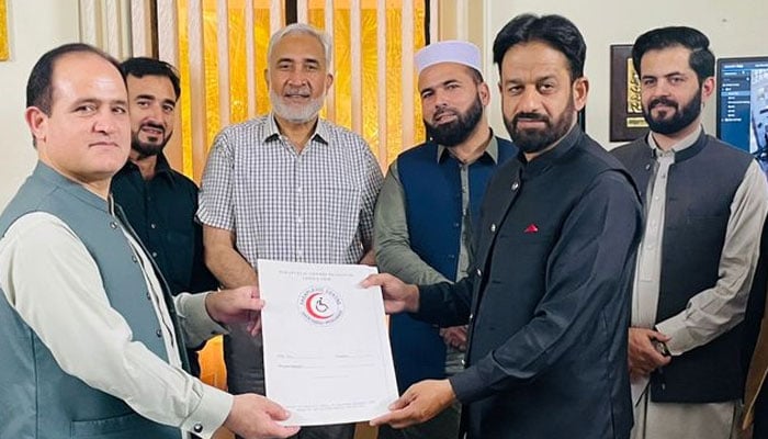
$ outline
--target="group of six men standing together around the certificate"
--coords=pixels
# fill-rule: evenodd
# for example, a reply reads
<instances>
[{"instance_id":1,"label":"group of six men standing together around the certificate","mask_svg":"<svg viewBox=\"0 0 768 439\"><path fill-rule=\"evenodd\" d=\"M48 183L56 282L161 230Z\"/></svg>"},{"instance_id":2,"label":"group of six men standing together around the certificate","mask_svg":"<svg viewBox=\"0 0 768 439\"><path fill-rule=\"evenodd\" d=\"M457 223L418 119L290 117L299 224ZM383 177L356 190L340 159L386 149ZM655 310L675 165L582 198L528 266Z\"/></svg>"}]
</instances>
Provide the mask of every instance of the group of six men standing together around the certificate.
<instances>
[{"instance_id":1,"label":"group of six men standing together around the certificate","mask_svg":"<svg viewBox=\"0 0 768 439\"><path fill-rule=\"evenodd\" d=\"M434 43L415 59L429 139L384 178L318 117L330 41L289 25L271 113L218 134L200 193L162 155L172 66L45 54L25 112L38 164L0 215L0 437L351 439L283 427L260 396L259 258L379 266L364 285L393 314L402 393L381 438L735 438L753 420L768 437L768 184L703 132L708 38L636 40L650 133L610 153L577 124L572 22L516 16L493 50L512 142L488 125L477 47ZM236 396L184 371L217 334Z\"/></svg>"}]
</instances>

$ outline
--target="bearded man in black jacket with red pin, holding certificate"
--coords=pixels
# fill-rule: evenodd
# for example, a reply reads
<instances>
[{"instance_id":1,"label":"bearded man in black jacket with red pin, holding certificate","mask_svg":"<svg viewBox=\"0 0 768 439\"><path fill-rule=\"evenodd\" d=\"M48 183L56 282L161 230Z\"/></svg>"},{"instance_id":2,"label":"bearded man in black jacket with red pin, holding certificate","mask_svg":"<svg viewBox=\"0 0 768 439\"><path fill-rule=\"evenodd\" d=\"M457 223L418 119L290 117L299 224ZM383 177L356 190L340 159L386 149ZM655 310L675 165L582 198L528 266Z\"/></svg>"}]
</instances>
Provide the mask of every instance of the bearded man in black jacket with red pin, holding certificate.
<instances>
[{"instance_id":1,"label":"bearded man in black jacket with red pin, holding certificate","mask_svg":"<svg viewBox=\"0 0 768 439\"><path fill-rule=\"evenodd\" d=\"M368 281L383 285L391 313L468 323L467 368L413 385L373 424L420 423L458 399L468 438L629 437L624 333L641 207L625 170L576 125L585 52L556 15L518 16L497 36L505 123L521 154L488 185L473 274Z\"/></svg>"}]
</instances>

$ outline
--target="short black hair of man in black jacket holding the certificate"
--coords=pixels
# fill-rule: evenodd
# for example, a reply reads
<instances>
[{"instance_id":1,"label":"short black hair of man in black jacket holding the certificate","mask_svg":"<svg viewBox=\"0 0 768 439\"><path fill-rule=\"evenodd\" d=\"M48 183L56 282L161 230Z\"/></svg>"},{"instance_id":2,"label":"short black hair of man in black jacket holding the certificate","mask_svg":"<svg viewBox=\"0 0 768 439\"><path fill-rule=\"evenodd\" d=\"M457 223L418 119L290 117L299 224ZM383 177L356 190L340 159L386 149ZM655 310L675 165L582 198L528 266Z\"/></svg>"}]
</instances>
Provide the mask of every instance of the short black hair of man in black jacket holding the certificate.
<instances>
[{"instance_id":1,"label":"short black hair of man in black jacket holding the certificate","mask_svg":"<svg viewBox=\"0 0 768 439\"><path fill-rule=\"evenodd\" d=\"M565 55L571 67L571 81L584 76L587 44L578 27L562 15L521 14L507 23L494 41L494 63L501 74L501 60L510 47L541 42Z\"/></svg>"}]
</instances>

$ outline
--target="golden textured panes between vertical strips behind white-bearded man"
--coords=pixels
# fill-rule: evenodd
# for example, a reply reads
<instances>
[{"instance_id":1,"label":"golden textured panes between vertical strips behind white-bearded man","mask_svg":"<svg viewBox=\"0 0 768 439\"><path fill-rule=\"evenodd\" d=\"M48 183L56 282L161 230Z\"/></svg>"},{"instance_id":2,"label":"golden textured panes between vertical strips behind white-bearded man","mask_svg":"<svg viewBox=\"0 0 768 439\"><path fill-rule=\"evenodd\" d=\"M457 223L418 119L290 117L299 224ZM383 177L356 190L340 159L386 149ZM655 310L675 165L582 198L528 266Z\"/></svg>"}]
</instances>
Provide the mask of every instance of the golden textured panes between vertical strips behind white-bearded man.
<instances>
[{"instance_id":1,"label":"golden textured panes between vertical strips behind white-bearded man","mask_svg":"<svg viewBox=\"0 0 768 439\"><path fill-rule=\"evenodd\" d=\"M218 0L224 1L224 0ZM181 124L182 124L182 149L183 149L183 169L188 175L199 173L203 169L203 164L192 164L192 127L190 126L191 110L190 105L205 105L205 142L206 147L213 143L215 135L222 130L219 120L219 67L217 38L228 38L228 82L229 82L229 122L237 123L249 117L248 102L253 97L248 95L248 65L246 38L248 30L246 29L247 14L245 0L227 1L227 33L219 35L217 33L218 16L216 13L217 0L202 1L202 40L203 40L203 77L205 83L204 102L191 102L191 99L181 100ZM308 1L307 19L309 24L318 27L325 27L325 1ZM382 166L388 165L397 155L411 147L413 145L403 145L403 77L402 77L402 20L403 20L403 2L387 1L386 3L386 23L377 23L377 12L375 1L362 1L361 16L361 41L350 41L351 30L351 11L349 1L336 1L334 11L334 58L335 58L335 108L334 122L351 127L352 126L352 77L359 75L362 80L362 95L360 104L362 109L362 133L360 133L371 145L371 149L379 157ZM182 95L190 97L190 71L189 64L189 35L188 35L188 0L178 1L178 24L179 24L179 70L182 72ZM267 68L267 48L269 44L270 32L270 0L253 0L251 2L252 21L253 21L253 56L252 60L252 80L256 86L255 110L256 114L266 114L270 110L269 92L264 80L263 71ZM411 15L414 20L414 41L407 44L414 45L414 52L425 45L425 1L414 1L414 11L406 16ZM379 63L377 53L377 27L386 25L386 66L387 77L386 83L379 83L376 71ZM361 71L351 71L351 44L360 44L362 67ZM200 67L195 67L197 69ZM415 80L415 79L414 79ZM387 121L386 126L380 126L379 123L379 93L386 93ZM414 133L416 143L420 143L425 138L425 128L421 122L421 105L419 102L418 91L411 98L414 100L415 114L413 119ZM323 116L327 116L326 109L323 110ZM381 157L379 154L379 136L380 130L386 130L387 145L386 157Z\"/></svg>"}]
</instances>

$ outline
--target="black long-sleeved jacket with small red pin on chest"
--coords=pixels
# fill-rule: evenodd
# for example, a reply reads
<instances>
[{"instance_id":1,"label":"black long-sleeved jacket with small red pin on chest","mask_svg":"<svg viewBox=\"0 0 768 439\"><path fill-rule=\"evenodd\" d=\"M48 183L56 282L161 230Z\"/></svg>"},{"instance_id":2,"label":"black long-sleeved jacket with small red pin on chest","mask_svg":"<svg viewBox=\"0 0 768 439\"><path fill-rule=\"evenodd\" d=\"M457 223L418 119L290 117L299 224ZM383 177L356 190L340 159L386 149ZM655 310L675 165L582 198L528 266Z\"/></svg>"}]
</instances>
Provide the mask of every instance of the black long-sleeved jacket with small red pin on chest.
<instances>
[{"instance_id":1,"label":"black long-sleeved jacket with small red pin on chest","mask_svg":"<svg viewBox=\"0 0 768 439\"><path fill-rule=\"evenodd\" d=\"M626 438L630 280L642 230L622 166L578 127L486 193L475 273L420 288L419 318L470 323L450 379L468 438Z\"/></svg>"}]
</instances>

